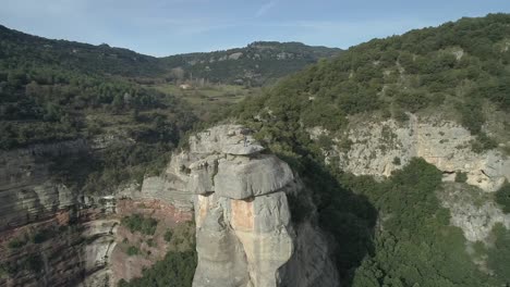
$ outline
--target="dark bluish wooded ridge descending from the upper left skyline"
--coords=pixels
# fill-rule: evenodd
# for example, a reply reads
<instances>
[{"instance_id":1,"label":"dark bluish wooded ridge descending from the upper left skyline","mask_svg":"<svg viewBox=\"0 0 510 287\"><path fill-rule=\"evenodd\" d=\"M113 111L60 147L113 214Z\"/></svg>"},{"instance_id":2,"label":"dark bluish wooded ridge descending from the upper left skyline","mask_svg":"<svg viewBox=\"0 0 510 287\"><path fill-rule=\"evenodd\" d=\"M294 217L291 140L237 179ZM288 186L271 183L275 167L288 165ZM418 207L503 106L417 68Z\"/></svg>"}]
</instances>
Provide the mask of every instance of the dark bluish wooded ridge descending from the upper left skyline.
<instances>
[{"instance_id":1,"label":"dark bluish wooded ridge descending from the upper left skyline","mask_svg":"<svg viewBox=\"0 0 510 287\"><path fill-rule=\"evenodd\" d=\"M158 76L165 72L157 58L108 45L88 45L32 36L0 25L0 59L9 68L52 65L84 73ZM2 68L4 68L2 66Z\"/></svg>"}]
</instances>

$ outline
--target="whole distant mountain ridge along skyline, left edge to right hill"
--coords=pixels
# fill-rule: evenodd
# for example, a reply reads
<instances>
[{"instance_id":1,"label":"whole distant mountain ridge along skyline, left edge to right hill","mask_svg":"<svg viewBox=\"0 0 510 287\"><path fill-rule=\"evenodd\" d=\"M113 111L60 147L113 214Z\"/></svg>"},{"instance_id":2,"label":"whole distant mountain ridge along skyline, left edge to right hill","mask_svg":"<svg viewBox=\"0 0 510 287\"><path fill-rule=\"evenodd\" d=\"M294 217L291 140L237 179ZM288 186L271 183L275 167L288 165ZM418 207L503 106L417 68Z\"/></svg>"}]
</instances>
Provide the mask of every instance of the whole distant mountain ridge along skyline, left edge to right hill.
<instances>
[{"instance_id":1,"label":"whole distant mountain ridge along skyline, left edge to right hill","mask_svg":"<svg viewBox=\"0 0 510 287\"><path fill-rule=\"evenodd\" d=\"M341 50L301 42L256 41L244 48L155 58L106 43L53 40L0 25L0 59L23 58L86 73L133 78L260 86L330 58ZM26 61L24 61L26 63Z\"/></svg>"}]
</instances>

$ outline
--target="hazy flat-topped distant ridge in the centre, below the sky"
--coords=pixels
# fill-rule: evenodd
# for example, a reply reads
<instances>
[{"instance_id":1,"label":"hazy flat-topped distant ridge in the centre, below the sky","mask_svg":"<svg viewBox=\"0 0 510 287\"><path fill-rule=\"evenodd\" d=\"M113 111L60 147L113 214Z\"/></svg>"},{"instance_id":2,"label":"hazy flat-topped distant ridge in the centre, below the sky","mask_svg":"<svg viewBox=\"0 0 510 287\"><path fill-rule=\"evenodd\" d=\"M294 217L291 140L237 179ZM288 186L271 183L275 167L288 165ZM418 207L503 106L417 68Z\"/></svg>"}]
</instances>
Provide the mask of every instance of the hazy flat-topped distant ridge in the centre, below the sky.
<instances>
[{"instance_id":1,"label":"hazy flat-topped distant ridge in the centre, below the sky","mask_svg":"<svg viewBox=\"0 0 510 287\"><path fill-rule=\"evenodd\" d=\"M340 51L301 42L257 41L244 48L178 54L162 60L172 68L182 68L187 77L205 78L214 83L260 86L274 83ZM172 75L177 76L175 73Z\"/></svg>"}]
</instances>

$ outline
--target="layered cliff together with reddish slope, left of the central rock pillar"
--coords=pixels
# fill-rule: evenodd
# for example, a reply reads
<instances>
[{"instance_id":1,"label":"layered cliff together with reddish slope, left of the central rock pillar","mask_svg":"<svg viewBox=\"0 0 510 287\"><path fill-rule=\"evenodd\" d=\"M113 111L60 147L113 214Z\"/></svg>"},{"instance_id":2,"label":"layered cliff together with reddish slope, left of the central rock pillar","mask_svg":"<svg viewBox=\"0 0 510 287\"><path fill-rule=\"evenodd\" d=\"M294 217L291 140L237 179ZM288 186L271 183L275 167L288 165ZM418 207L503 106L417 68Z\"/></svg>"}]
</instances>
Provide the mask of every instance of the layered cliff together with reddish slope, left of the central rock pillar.
<instances>
[{"instance_id":1,"label":"layered cliff together with reddish slope, left of the central rock pillar","mask_svg":"<svg viewBox=\"0 0 510 287\"><path fill-rule=\"evenodd\" d=\"M161 259L162 234L192 220L191 195L167 173L101 197L56 179L56 160L106 145L72 140L0 152L0 286L114 286ZM119 223L132 213L159 220L158 249L141 247L150 257L126 259L122 240L141 238Z\"/></svg>"}]
</instances>

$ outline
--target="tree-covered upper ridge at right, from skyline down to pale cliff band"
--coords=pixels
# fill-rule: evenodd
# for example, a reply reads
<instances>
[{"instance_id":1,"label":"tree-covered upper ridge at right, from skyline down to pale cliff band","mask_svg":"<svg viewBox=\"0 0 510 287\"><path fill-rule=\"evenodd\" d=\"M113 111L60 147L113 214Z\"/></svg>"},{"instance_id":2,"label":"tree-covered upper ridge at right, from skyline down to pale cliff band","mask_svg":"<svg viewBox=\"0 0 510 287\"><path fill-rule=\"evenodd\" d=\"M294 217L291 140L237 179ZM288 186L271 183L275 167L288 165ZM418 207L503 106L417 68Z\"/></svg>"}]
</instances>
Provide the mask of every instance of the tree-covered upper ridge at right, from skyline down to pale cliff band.
<instances>
[{"instance_id":1,"label":"tree-covered upper ridge at right, from skyline down to pale cliff band","mask_svg":"<svg viewBox=\"0 0 510 287\"><path fill-rule=\"evenodd\" d=\"M354 114L405 121L404 112L434 111L483 134L489 112L508 125L509 24L489 14L371 40L281 80L254 110L332 130Z\"/></svg>"}]
</instances>

